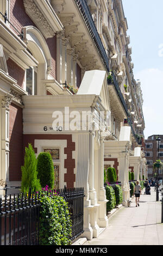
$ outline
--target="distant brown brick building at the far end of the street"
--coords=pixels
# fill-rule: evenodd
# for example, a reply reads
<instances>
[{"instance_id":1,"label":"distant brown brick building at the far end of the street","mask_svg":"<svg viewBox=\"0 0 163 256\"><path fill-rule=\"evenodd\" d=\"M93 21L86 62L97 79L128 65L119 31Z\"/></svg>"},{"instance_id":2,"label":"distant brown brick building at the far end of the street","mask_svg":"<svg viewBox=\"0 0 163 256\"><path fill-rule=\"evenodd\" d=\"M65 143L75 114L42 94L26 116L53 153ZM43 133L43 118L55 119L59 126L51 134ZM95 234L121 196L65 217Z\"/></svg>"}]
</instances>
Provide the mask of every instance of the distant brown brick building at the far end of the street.
<instances>
[{"instance_id":1,"label":"distant brown brick building at the far end of the street","mask_svg":"<svg viewBox=\"0 0 163 256\"><path fill-rule=\"evenodd\" d=\"M161 141L159 142L159 155L158 155L158 142L155 140L158 135L149 136L145 140L145 156L148 166L148 179L154 179L153 163L160 159L163 162L163 135L159 135ZM159 179L162 179L162 169L159 169Z\"/></svg>"}]
</instances>

